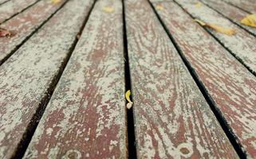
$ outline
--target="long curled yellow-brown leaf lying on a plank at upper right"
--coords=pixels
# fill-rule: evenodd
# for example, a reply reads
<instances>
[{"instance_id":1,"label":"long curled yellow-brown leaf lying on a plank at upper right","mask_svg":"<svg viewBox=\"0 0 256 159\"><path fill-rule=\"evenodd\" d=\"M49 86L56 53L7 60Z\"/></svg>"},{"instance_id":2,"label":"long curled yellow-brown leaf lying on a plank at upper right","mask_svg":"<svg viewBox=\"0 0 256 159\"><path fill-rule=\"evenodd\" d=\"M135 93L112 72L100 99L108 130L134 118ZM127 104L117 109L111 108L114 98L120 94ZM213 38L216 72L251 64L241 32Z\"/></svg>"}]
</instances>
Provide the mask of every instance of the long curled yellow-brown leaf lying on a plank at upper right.
<instances>
[{"instance_id":1,"label":"long curled yellow-brown leaf lying on a plank at upper right","mask_svg":"<svg viewBox=\"0 0 256 159\"><path fill-rule=\"evenodd\" d=\"M214 29L215 31L219 32L219 33L225 33L226 35L234 35L235 30L234 29L230 29L230 28L224 28L223 26L220 25L214 25L214 24L209 24L203 21L200 21L198 19L195 19L196 22L199 23L199 25L202 26L206 26L208 28Z\"/></svg>"}]
</instances>

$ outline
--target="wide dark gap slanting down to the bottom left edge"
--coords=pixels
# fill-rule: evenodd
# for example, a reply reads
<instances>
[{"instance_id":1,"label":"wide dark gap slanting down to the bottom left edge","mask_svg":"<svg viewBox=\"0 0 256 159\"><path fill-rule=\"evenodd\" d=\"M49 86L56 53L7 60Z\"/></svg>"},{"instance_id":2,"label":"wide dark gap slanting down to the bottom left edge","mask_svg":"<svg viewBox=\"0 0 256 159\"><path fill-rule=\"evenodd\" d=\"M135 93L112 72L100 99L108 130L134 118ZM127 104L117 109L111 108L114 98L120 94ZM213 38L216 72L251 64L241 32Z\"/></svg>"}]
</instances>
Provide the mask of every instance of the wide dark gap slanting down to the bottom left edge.
<instances>
[{"instance_id":1,"label":"wide dark gap slanting down to the bottom left edge","mask_svg":"<svg viewBox=\"0 0 256 159\"><path fill-rule=\"evenodd\" d=\"M45 92L45 96L41 99L41 102L40 102L39 106L37 107L37 111L35 112L35 114L33 114L33 117L31 119L29 125L26 127L26 131L22 136L22 140L18 143L17 149L11 158L13 158L13 159L22 158L24 156L24 154L26 153L26 149L30 145L31 139L33 138L33 134L34 134L35 130L37 129L37 125L40 122L41 117L45 112L45 108L47 107L47 104L49 103L49 100L51 99L51 97L53 95L53 91L55 90L57 83L61 79L62 73L64 72L65 67L68 64L69 59L77 45L77 41L79 40L79 37L77 35L81 35L83 30L85 29L85 24L89 19L89 16L95 6L96 1L97 0L94 0L93 5L90 8L89 13L86 15L85 20L83 21L83 24L81 25L79 32L76 34L76 37L75 37L75 40L73 41L72 46L69 48L69 53L67 54L67 56L61 63L61 67L60 67L59 71L57 72L57 75L53 77L53 80L49 84L49 88ZM65 4L66 4L66 2L65 2ZM63 4L63 6L64 6L64 4Z\"/></svg>"}]
</instances>

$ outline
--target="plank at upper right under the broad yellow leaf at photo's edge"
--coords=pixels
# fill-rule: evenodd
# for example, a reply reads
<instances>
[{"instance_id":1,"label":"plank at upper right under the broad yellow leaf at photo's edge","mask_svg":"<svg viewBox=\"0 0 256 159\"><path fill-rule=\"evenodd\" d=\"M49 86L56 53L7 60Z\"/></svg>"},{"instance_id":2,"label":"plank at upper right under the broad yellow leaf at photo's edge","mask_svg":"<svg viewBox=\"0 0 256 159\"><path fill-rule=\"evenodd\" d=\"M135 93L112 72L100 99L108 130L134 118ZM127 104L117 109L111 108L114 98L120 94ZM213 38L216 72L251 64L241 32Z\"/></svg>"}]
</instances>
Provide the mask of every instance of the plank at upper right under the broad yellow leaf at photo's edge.
<instances>
[{"instance_id":1,"label":"plank at upper right under the broad yellow leaf at photo's edge","mask_svg":"<svg viewBox=\"0 0 256 159\"><path fill-rule=\"evenodd\" d=\"M201 0L205 4L211 6L213 9L217 10L220 14L223 14L225 17L229 18L230 21L233 21L237 25L241 26L243 29L246 29L248 32L254 34L256 36L256 28L242 25L241 20L248 15L243 10L238 9L235 6L231 6L230 4L223 2L222 0Z\"/></svg>"}]
</instances>

